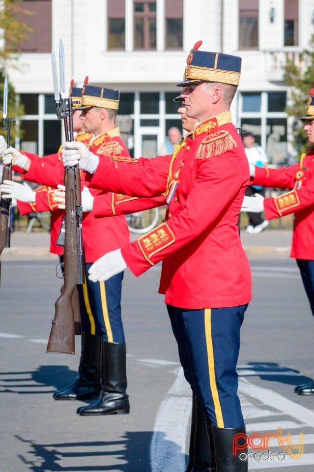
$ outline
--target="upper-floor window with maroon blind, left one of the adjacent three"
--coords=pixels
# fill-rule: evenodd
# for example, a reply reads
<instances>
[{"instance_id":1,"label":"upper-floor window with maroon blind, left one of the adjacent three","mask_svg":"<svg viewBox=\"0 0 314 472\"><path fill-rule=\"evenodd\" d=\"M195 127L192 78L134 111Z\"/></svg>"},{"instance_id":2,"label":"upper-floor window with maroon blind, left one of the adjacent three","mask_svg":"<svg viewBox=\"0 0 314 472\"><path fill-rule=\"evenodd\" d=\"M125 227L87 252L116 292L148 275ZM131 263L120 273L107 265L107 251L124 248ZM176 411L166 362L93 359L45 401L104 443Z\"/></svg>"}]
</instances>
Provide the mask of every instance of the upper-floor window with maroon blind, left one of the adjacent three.
<instances>
[{"instance_id":1,"label":"upper-floor window with maroon blind, left one of the adjacent three","mask_svg":"<svg viewBox=\"0 0 314 472\"><path fill-rule=\"evenodd\" d=\"M108 0L108 49L125 49L125 0Z\"/></svg>"}]
</instances>

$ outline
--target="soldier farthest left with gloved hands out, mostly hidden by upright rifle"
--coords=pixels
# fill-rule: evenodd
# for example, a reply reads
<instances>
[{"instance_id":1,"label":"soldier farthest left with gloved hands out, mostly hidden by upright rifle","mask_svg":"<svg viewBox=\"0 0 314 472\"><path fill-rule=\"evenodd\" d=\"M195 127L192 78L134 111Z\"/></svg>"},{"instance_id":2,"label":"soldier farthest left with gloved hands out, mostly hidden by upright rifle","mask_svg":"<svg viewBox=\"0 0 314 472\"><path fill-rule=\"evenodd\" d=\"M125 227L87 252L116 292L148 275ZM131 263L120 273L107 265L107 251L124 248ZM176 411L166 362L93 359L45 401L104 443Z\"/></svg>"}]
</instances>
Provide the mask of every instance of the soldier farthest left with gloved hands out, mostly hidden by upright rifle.
<instances>
[{"instance_id":1,"label":"soldier farthest left with gloved hands out, mostly hidden by upright rifle","mask_svg":"<svg viewBox=\"0 0 314 472\"><path fill-rule=\"evenodd\" d=\"M87 79L87 78L86 78ZM70 87L70 96L73 99L73 130L76 133L75 140L80 141L86 146L93 135L86 133L83 129L82 120L80 119L80 106L82 105L82 88ZM60 174L64 172L61 159L61 147L55 154L39 157L37 154L30 154L24 151L17 151L11 148L11 154L15 162L14 169L20 173L25 173L29 169L31 162L33 165L49 165L59 169ZM7 154L4 156L8 158ZM36 163L36 164L35 164ZM18 167L17 167L18 165ZM26 182L25 182L26 183ZM58 208L58 203L54 200L54 192L56 188L50 185L43 185L32 190L28 185L22 185L17 182L5 181L2 185L2 191L6 193L7 198L14 198L22 215L33 211L50 211L50 252L57 254L60 265L63 264L62 245L57 244L60 233L64 211ZM78 368L78 378L67 388L54 393L54 398L63 392L63 399L95 399L98 397L101 389L101 348L102 340L99 334L89 331L82 331L81 336L81 357Z\"/></svg>"}]
</instances>

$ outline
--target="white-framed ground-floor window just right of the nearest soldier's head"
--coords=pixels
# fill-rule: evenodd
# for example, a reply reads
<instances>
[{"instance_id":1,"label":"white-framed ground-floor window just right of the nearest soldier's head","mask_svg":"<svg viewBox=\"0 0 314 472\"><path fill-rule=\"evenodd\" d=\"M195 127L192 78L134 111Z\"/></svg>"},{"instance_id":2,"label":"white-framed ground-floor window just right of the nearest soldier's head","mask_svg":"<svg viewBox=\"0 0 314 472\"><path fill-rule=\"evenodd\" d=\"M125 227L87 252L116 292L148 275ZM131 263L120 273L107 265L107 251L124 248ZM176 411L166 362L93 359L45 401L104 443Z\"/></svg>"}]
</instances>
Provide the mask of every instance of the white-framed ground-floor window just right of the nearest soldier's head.
<instances>
[{"instance_id":1,"label":"white-framed ground-floor window just right of the nearest soldier's head","mask_svg":"<svg viewBox=\"0 0 314 472\"><path fill-rule=\"evenodd\" d=\"M244 92L240 97L241 128L250 131L274 165L288 163L286 92Z\"/></svg>"}]
</instances>

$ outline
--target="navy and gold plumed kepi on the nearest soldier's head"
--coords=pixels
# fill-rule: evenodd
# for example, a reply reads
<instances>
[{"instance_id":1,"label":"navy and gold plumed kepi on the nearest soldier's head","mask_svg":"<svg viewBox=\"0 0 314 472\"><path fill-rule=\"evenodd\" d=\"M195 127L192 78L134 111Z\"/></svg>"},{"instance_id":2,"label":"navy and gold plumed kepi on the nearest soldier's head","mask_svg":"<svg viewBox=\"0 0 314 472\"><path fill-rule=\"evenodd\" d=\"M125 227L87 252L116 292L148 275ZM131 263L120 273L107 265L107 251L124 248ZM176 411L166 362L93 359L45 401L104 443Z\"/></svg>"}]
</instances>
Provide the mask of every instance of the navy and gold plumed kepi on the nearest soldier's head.
<instances>
[{"instance_id":1,"label":"navy and gold plumed kepi on the nearest soldier's head","mask_svg":"<svg viewBox=\"0 0 314 472\"><path fill-rule=\"evenodd\" d=\"M229 54L199 51L202 41L198 41L186 60L183 81L177 87L199 84L200 82L220 82L239 85L241 58Z\"/></svg>"}]
</instances>

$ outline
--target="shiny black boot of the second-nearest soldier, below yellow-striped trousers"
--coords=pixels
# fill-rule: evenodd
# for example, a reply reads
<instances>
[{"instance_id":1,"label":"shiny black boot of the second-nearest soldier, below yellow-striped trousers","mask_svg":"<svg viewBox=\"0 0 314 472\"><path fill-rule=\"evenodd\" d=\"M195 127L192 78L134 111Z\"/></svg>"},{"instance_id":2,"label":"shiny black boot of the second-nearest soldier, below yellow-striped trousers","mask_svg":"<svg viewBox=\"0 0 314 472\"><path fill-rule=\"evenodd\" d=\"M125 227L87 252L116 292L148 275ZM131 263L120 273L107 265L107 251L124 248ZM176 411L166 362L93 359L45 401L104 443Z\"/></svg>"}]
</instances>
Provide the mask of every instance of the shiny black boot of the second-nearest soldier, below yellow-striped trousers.
<instances>
[{"instance_id":1,"label":"shiny black boot of the second-nearest soldier, below yellow-striped trousers","mask_svg":"<svg viewBox=\"0 0 314 472\"><path fill-rule=\"evenodd\" d=\"M130 413L126 394L125 344L103 342L102 387L98 399L91 405L80 407L80 415Z\"/></svg>"}]
</instances>

